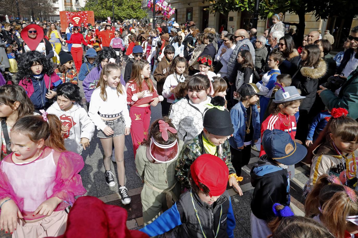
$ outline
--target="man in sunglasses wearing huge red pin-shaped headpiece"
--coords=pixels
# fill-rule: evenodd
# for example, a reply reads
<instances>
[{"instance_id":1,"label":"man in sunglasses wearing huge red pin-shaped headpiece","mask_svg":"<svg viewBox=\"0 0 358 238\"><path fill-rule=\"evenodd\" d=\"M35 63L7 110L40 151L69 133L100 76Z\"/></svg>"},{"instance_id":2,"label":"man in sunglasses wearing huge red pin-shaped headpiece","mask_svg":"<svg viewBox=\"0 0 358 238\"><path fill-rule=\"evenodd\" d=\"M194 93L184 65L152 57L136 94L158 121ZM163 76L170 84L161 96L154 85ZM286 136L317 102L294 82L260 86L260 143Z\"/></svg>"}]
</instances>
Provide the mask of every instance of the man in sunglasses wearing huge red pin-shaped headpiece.
<instances>
[{"instance_id":1,"label":"man in sunglasses wearing huge red pin-shaped headpiece","mask_svg":"<svg viewBox=\"0 0 358 238\"><path fill-rule=\"evenodd\" d=\"M25 52L36 50L46 55L46 58L50 59L54 57L54 49L51 43L44 38L44 31L41 26L37 24L27 25L21 31L20 35L24 40L22 49L24 49Z\"/></svg>"}]
</instances>

